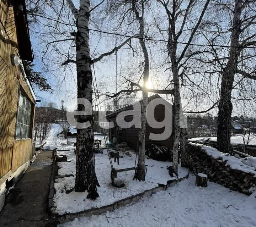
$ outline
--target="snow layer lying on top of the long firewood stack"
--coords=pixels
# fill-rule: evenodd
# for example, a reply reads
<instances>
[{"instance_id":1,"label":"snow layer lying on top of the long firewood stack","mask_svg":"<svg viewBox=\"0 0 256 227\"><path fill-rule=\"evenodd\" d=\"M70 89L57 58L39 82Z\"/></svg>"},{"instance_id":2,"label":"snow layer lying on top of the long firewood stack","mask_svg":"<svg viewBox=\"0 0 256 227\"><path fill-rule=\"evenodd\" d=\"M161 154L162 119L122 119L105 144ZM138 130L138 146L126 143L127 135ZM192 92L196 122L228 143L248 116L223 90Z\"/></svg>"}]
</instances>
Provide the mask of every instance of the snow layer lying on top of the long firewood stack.
<instances>
[{"instance_id":1,"label":"snow layer lying on top of the long firewood stack","mask_svg":"<svg viewBox=\"0 0 256 227\"><path fill-rule=\"evenodd\" d=\"M208 155L212 156L214 159L222 158L222 161L226 161L226 166L229 165L233 170L240 170L245 173L253 173L256 176L255 167L245 165L242 161L243 159L238 159L235 156L230 156L229 154L224 154L218 151L216 148L212 148L210 146L205 146L203 144L197 144L190 142L189 144L194 146L199 146L203 151L205 151Z\"/></svg>"}]
</instances>

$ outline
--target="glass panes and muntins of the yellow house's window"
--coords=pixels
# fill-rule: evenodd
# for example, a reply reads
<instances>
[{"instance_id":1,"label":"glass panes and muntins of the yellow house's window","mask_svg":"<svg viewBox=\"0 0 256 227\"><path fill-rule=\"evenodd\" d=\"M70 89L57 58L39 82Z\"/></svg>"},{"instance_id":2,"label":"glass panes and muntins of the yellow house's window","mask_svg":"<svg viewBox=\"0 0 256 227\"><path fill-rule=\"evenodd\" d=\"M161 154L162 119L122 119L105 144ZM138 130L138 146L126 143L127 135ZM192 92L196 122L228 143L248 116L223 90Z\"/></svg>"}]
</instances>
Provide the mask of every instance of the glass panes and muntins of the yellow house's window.
<instances>
[{"instance_id":1,"label":"glass panes and muntins of the yellow house's window","mask_svg":"<svg viewBox=\"0 0 256 227\"><path fill-rule=\"evenodd\" d=\"M32 104L25 95L20 93L16 139L31 138L31 110Z\"/></svg>"}]
</instances>

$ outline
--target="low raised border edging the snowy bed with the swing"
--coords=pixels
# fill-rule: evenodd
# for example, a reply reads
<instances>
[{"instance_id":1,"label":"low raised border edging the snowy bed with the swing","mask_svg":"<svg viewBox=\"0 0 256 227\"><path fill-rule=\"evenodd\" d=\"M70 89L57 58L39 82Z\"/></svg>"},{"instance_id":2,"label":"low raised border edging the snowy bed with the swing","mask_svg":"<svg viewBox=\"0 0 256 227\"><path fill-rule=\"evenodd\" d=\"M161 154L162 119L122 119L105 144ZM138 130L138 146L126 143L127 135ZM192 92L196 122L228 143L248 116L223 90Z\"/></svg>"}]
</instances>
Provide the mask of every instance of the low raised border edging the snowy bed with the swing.
<instances>
[{"instance_id":1,"label":"low raised border edging the snowy bed with the swing","mask_svg":"<svg viewBox=\"0 0 256 227\"><path fill-rule=\"evenodd\" d=\"M58 167L57 167L57 172L58 172ZM182 177L178 180L170 181L167 184L167 186L161 185L161 186L158 186L158 187L155 187L155 188L152 188L152 189L145 190L142 193L132 195L132 196L129 196L127 198L118 200L118 201L116 201L116 202L114 202L110 205L101 206L101 207L97 207L97 208L92 208L90 210L84 210L84 211L80 211L80 212L76 212L76 213L68 213L68 214L63 214L63 215L57 215L57 214L52 213L52 211L50 210L53 207L53 198L52 198L51 199L52 204L51 204L51 206L49 206L49 211L51 212L52 216L55 216L57 218L59 223L65 223L67 221L73 221L76 217L82 217L82 216L89 217L91 215L101 215L101 214L103 214L107 211L112 212L112 211L118 209L119 207L126 206L126 205L131 204L131 203L137 203L143 197L152 196L153 194L155 194L159 190L166 190L168 187L174 186L177 182L181 182L184 179L187 179L188 176L189 176L189 173L190 173L190 171L188 171L188 174L187 174L186 177Z\"/></svg>"}]
</instances>

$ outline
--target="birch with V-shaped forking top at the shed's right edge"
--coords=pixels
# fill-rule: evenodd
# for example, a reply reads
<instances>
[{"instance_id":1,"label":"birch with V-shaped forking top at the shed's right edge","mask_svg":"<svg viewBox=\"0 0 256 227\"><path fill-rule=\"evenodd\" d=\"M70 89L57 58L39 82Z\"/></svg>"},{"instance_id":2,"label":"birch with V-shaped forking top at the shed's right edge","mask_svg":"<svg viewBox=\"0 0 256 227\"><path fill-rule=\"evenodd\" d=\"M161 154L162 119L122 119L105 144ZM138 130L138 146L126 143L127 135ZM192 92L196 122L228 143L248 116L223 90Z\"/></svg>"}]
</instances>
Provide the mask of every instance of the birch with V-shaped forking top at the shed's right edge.
<instances>
[{"instance_id":1,"label":"birch with V-shaped forking top at the shed's right edge","mask_svg":"<svg viewBox=\"0 0 256 227\"><path fill-rule=\"evenodd\" d=\"M187 56L187 51L189 50L189 46L191 44L191 41L193 40L197 30L199 29L199 26L201 24L201 21L203 19L204 13L206 12L206 9L208 7L210 0L206 0L204 3L204 6L201 10L200 16L197 18L196 22L193 24L194 27L191 28L191 33L186 38L187 42L185 46L182 48L179 46L179 48L182 48L180 53L178 53L178 39L183 38L182 33L184 33L185 25L186 23L190 23L190 13L193 9L193 7L196 5L198 1L196 0L190 0L188 1L187 7L184 7L183 2L172 0L172 1L165 1L165 0L157 0L162 7L164 7L164 10L166 12L167 20L168 20L168 27L165 28L164 31L167 31L167 52L168 57L170 59L170 68L172 71L172 82L174 86L174 109L175 109L175 116L174 116L174 146L173 146L173 167L174 170L177 172L178 170L178 148L179 148L179 142L180 142L180 81L179 78L184 74L185 72L182 72L180 70L182 68L182 64L184 63L184 58ZM199 7L199 6L198 6ZM177 18L181 18L181 26L177 23ZM185 60L186 62L186 60ZM179 72L180 71L180 72Z\"/></svg>"}]
</instances>

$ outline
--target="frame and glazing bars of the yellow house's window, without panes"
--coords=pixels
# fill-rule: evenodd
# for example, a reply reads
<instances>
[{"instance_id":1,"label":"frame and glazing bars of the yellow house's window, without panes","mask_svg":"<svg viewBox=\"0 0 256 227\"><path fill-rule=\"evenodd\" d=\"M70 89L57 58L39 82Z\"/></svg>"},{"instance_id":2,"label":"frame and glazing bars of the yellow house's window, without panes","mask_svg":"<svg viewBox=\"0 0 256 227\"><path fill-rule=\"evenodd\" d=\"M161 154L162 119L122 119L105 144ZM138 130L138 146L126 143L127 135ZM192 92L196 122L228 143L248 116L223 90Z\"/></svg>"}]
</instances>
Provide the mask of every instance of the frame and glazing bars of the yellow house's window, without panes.
<instances>
[{"instance_id":1,"label":"frame and glazing bars of the yellow house's window, without panes","mask_svg":"<svg viewBox=\"0 0 256 227\"><path fill-rule=\"evenodd\" d=\"M18 118L19 118L19 110L20 110L20 98L21 96L23 97L23 103L22 103L22 118L21 118L21 122L18 122ZM28 107L26 107L26 104L28 103ZM26 110L27 108L27 110ZM23 90L20 89L19 93L18 93L18 105L17 105L17 115L16 115L16 127L15 127L15 140L26 140L26 139L32 139L32 116L33 116L33 103L31 102L31 100L28 98L28 96L26 95L25 92L23 92ZM27 117L26 117L26 124L24 124L24 115L25 112L27 112ZM30 122L28 122L28 116L30 115ZM28 124L29 123L29 124ZM21 124L21 129L20 129L20 136L17 137L17 128L18 128L18 124ZM24 126L26 127L26 134L23 137L23 128ZM29 128L29 133L27 132L27 129Z\"/></svg>"}]
</instances>

